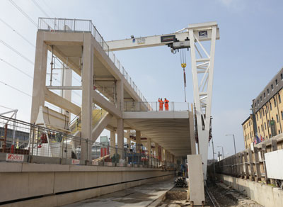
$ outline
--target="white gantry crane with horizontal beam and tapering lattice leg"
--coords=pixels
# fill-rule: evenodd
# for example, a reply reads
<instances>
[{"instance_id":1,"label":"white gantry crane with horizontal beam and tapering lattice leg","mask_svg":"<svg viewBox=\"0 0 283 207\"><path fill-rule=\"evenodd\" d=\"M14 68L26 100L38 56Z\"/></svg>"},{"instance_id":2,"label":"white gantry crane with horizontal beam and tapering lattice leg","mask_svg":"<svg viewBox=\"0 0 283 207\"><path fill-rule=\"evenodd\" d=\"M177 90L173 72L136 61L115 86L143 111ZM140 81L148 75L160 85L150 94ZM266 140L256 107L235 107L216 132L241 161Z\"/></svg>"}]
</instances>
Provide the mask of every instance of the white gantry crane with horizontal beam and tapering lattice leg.
<instances>
[{"instance_id":1,"label":"white gantry crane with horizontal beam and tapering lattice leg","mask_svg":"<svg viewBox=\"0 0 283 207\"><path fill-rule=\"evenodd\" d=\"M108 41L109 50L129 50L142 47L167 45L171 52L190 48L192 82L195 102L196 139L198 152L202 155L204 179L207 174L207 151L211 130L212 84L214 71L215 42L219 40L219 28L216 22L193 23L187 28L167 35L154 35L125 40ZM207 51L202 44L210 41ZM182 67L185 65L182 65Z\"/></svg>"}]
</instances>

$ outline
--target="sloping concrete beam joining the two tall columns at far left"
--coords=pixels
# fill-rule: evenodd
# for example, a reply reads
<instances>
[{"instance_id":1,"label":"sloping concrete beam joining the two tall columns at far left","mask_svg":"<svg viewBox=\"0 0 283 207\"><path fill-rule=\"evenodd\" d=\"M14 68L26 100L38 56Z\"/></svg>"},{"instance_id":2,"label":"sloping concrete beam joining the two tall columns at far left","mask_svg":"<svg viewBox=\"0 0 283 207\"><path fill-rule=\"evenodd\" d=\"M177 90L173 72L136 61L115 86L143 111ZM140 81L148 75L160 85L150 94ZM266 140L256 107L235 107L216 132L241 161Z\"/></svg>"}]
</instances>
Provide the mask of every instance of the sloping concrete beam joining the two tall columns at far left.
<instances>
[{"instance_id":1,"label":"sloping concrete beam joining the two tall columns at far left","mask_svg":"<svg viewBox=\"0 0 283 207\"><path fill-rule=\"evenodd\" d=\"M81 113L81 107L71 103L70 101L62 98L61 96L58 96L57 94L54 94L52 91L47 90L46 88L45 101L49 102L50 104L54 104L55 106L59 106L60 108L63 108L64 110L74 113L76 115Z\"/></svg>"}]
</instances>

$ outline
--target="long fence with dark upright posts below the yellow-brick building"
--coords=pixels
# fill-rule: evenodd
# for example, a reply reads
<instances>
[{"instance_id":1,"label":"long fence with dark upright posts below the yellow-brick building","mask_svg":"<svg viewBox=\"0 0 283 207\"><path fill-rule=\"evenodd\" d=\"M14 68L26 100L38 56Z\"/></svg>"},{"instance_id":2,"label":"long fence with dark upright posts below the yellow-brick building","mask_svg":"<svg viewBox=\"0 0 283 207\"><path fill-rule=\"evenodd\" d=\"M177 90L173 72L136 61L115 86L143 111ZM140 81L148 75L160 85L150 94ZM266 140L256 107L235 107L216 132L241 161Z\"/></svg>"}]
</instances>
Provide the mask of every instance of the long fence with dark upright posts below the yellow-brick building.
<instances>
[{"instance_id":1,"label":"long fence with dark upright posts below the yellow-brick building","mask_svg":"<svg viewBox=\"0 0 283 207\"><path fill-rule=\"evenodd\" d=\"M238 152L236 155L226 157L224 160L215 162L215 172L216 174L226 174L231 177L237 177L242 179L250 179L252 181L260 181L266 184L273 184L275 186L282 187L283 180L282 176L280 178L272 177L272 169L268 168L268 164L273 164L272 168L280 170L281 164L277 166L276 162L278 158L272 160L274 162L267 162L268 152L277 152L277 155L282 155L283 149L283 134L277 135L275 138L270 140L265 140L259 144L251 147L242 152ZM277 151L280 150L280 151ZM270 156L270 153L268 153ZM277 157L279 157L277 156ZM282 157L281 157L282 158ZM275 165L274 165L275 164ZM210 164L207 167L208 174L213 177L214 174L214 165ZM272 172L268 174L267 172ZM280 173L279 173L280 174ZM282 175L282 174L281 174Z\"/></svg>"}]
</instances>

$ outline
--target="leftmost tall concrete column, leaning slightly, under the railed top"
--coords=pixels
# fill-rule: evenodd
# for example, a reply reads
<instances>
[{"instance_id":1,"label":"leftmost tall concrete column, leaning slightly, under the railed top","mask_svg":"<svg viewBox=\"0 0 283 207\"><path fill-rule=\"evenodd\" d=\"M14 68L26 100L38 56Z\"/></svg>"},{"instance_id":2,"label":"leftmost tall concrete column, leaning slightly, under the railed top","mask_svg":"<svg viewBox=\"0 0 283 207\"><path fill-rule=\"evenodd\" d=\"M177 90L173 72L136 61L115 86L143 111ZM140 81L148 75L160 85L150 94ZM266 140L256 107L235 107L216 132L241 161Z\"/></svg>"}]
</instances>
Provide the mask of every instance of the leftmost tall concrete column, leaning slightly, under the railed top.
<instances>
[{"instance_id":1,"label":"leftmost tall concrete column, leaning slightly, under the railed top","mask_svg":"<svg viewBox=\"0 0 283 207\"><path fill-rule=\"evenodd\" d=\"M31 104L30 122L35 123L40 106L45 104L45 80L47 69L47 45L44 33L37 32L35 47L35 69L33 74L33 99Z\"/></svg>"}]
</instances>

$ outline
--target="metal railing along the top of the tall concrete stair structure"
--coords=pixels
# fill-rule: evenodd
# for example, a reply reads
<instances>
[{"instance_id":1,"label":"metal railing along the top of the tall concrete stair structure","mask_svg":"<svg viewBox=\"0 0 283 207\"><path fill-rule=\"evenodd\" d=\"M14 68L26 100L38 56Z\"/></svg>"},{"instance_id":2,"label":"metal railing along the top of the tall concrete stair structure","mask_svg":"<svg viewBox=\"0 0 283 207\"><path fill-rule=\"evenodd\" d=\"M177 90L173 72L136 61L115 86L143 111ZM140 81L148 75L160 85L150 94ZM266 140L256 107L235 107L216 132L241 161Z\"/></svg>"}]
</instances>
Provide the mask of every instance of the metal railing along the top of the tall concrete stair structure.
<instances>
[{"instance_id":1,"label":"metal railing along the top of the tall concrete stair structure","mask_svg":"<svg viewBox=\"0 0 283 207\"><path fill-rule=\"evenodd\" d=\"M108 55L110 60L114 63L115 67L117 67L119 72L124 76L125 80L138 94L141 101L146 102L146 99L144 98L143 94L141 94L141 91L137 88L137 85L132 81L132 78L129 77L129 74L122 66L122 64L120 64L120 60L118 60L115 54L110 51L108 44L103 39L102 35L100 35L98 30L96 29L96 26L93 25L91 20L69 18L38 18L38 30L58 33L91 33L99 43L99 45L103 48L105 53Z\"/></svg>"}]
</instances>

